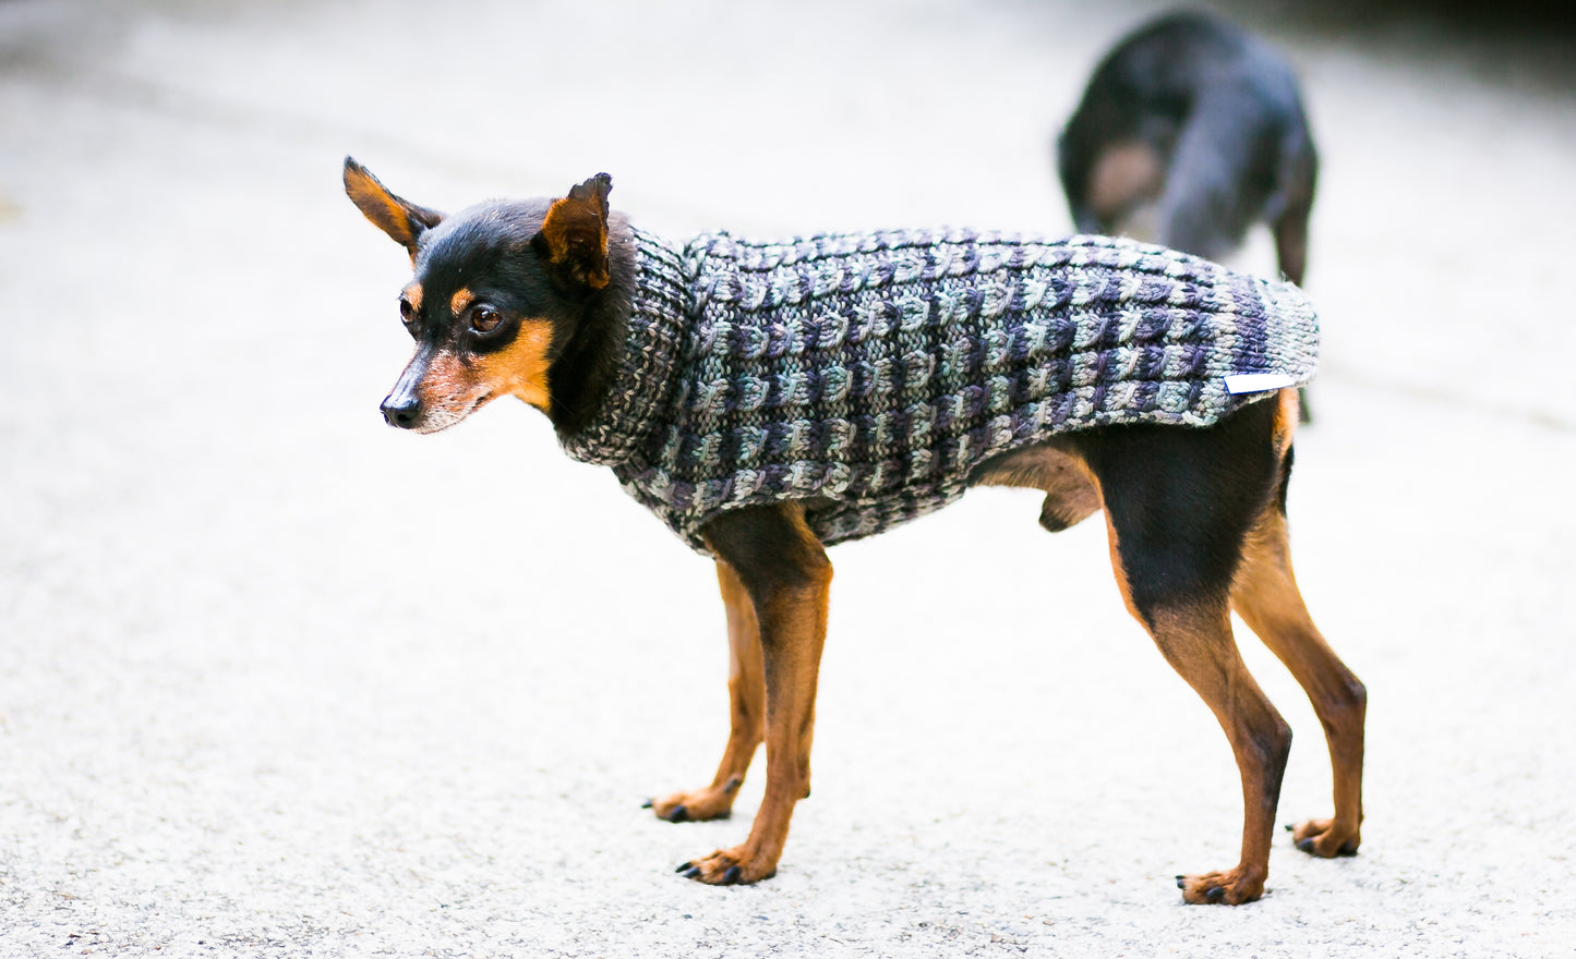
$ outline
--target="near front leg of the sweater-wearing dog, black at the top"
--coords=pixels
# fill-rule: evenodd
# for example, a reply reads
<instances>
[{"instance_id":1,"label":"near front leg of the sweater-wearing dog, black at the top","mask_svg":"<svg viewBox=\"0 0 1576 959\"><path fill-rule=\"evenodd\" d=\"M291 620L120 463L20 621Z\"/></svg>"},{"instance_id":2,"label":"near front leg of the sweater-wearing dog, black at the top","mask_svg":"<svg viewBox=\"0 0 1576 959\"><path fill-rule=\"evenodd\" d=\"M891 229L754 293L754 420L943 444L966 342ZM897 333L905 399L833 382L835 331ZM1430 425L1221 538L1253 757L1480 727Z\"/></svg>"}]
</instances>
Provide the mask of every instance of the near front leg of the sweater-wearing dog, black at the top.
<instances>
[{"instance_id":1,"label":"near front leg of the sweater-wearing dog, black at the top","mask_svg":"<svg viewBox=\"0 0 1576 959\"><path fill-rule=\"evenodd\" d=\"M796 504L723 513L706 542L744 586L761 636L766 685L766 797L750 838L684 863L709 883L756 882L777 872L794 805L810 795L815 683L826 642L832 564Z\"/></svg>"}]
</instances>

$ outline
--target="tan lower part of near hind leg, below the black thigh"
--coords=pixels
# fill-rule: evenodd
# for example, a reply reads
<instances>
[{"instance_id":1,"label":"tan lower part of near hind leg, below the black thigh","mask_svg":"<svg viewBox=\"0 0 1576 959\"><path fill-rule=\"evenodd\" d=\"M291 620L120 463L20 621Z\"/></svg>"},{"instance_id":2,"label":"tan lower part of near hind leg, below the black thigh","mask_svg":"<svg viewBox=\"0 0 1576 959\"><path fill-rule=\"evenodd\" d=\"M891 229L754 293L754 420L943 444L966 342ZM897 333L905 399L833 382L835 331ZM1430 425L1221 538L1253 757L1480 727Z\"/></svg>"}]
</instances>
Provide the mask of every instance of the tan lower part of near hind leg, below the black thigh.
<instances>
[{"instance_id":1,"label":"tan lower part of near hind leg, below the black thigh","mask_svg":"<svg viewBox=\"0 0 1576 959\"><path fill-rule=\"evenodd\" d=\"M1269 876L1275 805L1291 751L1291 728L1242 663L1231 636L1231 614L1225 597L1199 595L1165 602L1135 597L1124 573L1114 529L1111 559L1127 608L1154 636L1166 661L1215 713L1242 775L1242 858L1231 869L1179 876L1182 898L1199 904L1251 902L1264 894L1264 879Z\"/></svg>"}]
</instances>

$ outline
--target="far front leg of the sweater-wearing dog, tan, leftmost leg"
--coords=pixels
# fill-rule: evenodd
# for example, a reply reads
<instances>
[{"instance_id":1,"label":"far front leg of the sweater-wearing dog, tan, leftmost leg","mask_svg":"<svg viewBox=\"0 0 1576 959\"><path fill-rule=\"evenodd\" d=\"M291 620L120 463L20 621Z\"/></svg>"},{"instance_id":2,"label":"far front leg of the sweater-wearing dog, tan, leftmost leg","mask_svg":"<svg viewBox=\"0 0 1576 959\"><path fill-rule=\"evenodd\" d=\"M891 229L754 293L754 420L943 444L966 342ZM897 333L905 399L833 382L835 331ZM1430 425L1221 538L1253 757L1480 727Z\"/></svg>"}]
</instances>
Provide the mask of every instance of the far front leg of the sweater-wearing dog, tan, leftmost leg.
<instances>
[{"instance_id":1,"label":"far front leg of the sweater-wearing dog, tan, leftmost leg","mask_svg":"<svg viewBox=\"0 0 1576 959\"><path fill-rule=\"evenodd\" d=\"M728 613L728 746L711 786L651 800L651 809L668 822L727 819L766 737L766 679L761 671L761 625L744 583L725 562L717 562L717 586Z\"/></svg>"}]
</instances>

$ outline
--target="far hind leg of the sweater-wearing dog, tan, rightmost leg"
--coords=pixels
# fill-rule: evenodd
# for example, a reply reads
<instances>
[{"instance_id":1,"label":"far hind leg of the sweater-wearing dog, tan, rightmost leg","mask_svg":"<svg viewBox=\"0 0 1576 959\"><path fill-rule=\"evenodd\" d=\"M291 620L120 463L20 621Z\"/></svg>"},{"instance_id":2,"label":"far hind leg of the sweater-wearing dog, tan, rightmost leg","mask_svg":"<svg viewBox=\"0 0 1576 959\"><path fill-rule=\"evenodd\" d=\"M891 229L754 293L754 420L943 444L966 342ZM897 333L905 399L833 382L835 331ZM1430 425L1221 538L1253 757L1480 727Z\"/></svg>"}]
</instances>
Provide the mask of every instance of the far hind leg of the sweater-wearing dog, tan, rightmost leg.
<instances>
[{"instance_id":1,"label":"far hind leg of the sweater-wearing dog, tan, rightmost leg","mask_svg":"<svg viewBox=\"0 0 1576 959\"><path fill-rule=\"evenodd\" d=\"M1292 575L1286 517L1277 505L1264 510L1264 518L1248 534L1231 602L1308 693L1330 745L1335 816L1299 824L1292 841L1297 849L1319 857L1352 855L1362 842L1368 693L1308 616Z\"/></svg>"}]
</instances>

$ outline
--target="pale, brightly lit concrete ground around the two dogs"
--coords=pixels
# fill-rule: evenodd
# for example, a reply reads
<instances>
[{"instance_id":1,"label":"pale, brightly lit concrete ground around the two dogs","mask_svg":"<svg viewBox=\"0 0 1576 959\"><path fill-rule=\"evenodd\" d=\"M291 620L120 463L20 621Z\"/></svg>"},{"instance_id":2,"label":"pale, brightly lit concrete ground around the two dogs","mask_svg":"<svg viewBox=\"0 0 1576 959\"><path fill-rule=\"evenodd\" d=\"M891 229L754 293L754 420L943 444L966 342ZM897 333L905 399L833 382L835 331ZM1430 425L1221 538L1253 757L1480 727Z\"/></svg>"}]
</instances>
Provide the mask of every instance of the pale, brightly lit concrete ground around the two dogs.
<instances>
[{"instance_id":1,"label":"pale, brightly lit concrete ground around the two dogs","mask_svg":"<svg viewBox=\"0 0 1576 959\"><path fill-rule=\"evenodd\" d=\"M599 170L671 235L1061 231L1048 142L1157 8L0 3L0 954L1571 956L1576 96L1563 38L1240 5L1324 153L1299 573L1371 693L1362 855L1226 866L1236 770L1098 523L983 490L840 546L779 876L640 809L725 739L722 611L544 417L413 438L405 258ZM1256 239L1242 255L1269 266ZM958 602L952 597L969 597ZM1319 726L1284 820L1329 811Z\"/></svg>"}]
</instances>

